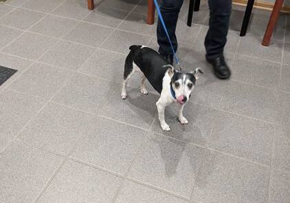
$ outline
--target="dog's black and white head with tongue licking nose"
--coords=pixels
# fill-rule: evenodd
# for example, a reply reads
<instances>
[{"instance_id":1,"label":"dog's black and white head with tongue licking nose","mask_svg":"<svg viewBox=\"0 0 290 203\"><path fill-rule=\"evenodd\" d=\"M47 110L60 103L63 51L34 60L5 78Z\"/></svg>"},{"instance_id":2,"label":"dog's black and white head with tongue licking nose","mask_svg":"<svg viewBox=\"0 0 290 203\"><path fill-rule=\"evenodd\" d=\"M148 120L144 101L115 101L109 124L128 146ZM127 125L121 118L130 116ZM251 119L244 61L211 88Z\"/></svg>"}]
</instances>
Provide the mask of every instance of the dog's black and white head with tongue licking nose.
<instances>
[{"instance_id":1,"label":"dog's black and white head with tongue licking nose","mask_svg":"<svg viewBox=\"0 0 290 203\"><path fill-rule=\"evenodd\" d=\"M168 68L168 75L171 78L171 88L175 92L177 103L184 105L190 98L195 82L199 79L199 73L203 74L200 67L193 72L181 72L174 67Z\"/></svg>"}]
</instances>

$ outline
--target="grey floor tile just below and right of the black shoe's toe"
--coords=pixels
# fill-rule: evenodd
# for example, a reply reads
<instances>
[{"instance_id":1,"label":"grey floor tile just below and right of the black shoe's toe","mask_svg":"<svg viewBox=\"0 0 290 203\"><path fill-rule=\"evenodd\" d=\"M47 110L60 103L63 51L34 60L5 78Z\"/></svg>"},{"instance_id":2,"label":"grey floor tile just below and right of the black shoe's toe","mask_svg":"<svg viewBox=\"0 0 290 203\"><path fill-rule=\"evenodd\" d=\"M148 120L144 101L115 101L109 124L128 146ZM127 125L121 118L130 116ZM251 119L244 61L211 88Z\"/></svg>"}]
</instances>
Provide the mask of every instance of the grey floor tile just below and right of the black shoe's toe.
<instances>
[{"instance_id":1,"label":"grey floor tile just below and right of the black shoe's toe","mask_svg":"<svg viewBox=\"0 0 290 203\"><path fill-rule=\"evenodd\" d=\"M275 90L230 82L227 83L221 109L277 124L277 103L278 93Z\"/></svg>"}]
</instances>

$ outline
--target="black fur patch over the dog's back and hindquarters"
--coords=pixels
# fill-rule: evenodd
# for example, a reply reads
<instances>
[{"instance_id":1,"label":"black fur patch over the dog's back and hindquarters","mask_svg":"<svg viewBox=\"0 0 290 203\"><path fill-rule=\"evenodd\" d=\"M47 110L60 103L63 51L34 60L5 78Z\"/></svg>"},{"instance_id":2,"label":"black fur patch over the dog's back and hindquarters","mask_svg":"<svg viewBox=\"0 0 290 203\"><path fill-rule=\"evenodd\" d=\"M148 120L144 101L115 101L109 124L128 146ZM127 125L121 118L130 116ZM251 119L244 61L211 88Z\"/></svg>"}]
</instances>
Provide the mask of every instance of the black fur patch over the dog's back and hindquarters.
<instances>
[{"instance_id":1,"label":"black fur patch over the dog's back and hindquarters","mask_svg":"<svg viewBox=\"0 0 290 203\"><path fill-rule=\"evenodd\" d=\"M134 62L144 73L149 83L160 94L162 81L168 70L168 67L164 67L164 65L168 65L168 62L158 52L149 47L132 45L130 50L131 52L126 57L124 79L131 74Z\"/></svg>"}]
</instances>

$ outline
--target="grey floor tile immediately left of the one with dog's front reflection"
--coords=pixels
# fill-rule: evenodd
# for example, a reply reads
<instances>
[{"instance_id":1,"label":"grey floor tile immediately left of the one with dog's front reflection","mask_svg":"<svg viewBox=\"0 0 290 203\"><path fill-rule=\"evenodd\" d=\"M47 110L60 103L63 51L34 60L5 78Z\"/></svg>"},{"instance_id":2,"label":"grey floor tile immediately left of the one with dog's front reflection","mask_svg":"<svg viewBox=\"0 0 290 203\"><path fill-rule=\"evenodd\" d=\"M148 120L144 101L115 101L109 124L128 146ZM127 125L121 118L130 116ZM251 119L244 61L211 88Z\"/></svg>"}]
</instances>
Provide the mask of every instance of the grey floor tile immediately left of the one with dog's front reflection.
<instances>
[{"instance_id":1,"label":"grey floor tile immediately left of the one with dog's front reflection","mask_svg":"<svg viewBox=\"0 0 290 203\"><path fill-rule=\"evenodd\" d=\"M71 157L126 174L148 133L104 118L92 126Z\"/></svg>"}]
</instances>

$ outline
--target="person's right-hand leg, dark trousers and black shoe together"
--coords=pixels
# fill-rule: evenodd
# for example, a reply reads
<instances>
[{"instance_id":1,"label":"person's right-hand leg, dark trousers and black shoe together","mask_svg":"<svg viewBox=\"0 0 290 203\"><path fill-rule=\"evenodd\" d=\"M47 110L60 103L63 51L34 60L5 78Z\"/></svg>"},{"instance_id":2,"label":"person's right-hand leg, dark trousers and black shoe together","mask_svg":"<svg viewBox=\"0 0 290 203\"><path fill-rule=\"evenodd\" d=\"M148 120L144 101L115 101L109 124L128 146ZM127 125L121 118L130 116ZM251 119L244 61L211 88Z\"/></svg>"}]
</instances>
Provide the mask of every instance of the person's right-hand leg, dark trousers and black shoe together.
<instances>
[{"instance_id":1,"label":"person's right-hand leg, dark trousers and black shoe together","mask_svg":"<svg viewBox=\"0 0 290 203\"><path fill-rule=\"evenodd\" d=\"M230 68L225 63L223 48L227 43L232 0L208 0L210 7L210 28L205 36L206 59L214 67L214 74L220 79L230 78Z\"/></svg>"}]
</instances>

